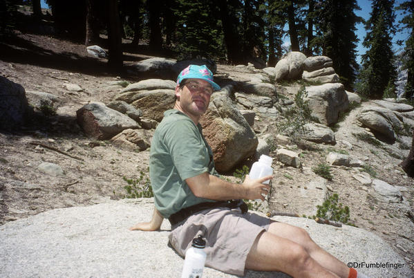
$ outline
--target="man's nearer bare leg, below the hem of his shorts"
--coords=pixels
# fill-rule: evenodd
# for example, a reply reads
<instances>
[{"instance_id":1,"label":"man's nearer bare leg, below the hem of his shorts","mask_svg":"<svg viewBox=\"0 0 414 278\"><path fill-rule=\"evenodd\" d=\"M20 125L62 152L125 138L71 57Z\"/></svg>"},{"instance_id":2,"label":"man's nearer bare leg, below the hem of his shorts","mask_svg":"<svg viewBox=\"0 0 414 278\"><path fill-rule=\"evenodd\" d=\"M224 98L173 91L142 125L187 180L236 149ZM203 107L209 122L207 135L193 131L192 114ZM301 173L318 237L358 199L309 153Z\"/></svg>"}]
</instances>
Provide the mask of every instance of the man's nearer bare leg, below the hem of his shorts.
<instances>
[{"instance_id":1,"label":"man's nearer bare leg, below the hem of his shorts","mask_svg":"<svg viewBox=\"0 0 414 278\"><path fill-rule=\"evenodd\" d=\"M323 268L299 243L263 232L247 255L246 268L282 271L292 277L338 277Z\"/></svg>"}]
</instances>

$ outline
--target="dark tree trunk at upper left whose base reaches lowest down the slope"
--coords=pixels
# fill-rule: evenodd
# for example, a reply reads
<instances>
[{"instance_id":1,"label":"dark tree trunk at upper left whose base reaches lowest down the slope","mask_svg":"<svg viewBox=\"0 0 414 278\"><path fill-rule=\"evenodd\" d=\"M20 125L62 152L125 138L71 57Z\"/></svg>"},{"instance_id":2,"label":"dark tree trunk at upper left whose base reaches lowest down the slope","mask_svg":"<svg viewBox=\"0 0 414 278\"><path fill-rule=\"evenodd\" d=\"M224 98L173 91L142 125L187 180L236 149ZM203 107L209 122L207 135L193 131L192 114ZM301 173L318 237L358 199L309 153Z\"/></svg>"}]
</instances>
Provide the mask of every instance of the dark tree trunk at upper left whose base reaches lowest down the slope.
<instances>
[{"instance_id":1,"label":"dark tree trunk at upper left whose base reaches lowest down the slope","mask_svg":"<svg viewBox=\"0 0 414 278\"><path fill-rule=\"evenodd\" d=\"M109 0L108 8L108 64L111 68L115 69L116 71L120 71L122 68L122 37L120 26L120 13L118 12L117 0Z\"/></svg>"}]
</instances>

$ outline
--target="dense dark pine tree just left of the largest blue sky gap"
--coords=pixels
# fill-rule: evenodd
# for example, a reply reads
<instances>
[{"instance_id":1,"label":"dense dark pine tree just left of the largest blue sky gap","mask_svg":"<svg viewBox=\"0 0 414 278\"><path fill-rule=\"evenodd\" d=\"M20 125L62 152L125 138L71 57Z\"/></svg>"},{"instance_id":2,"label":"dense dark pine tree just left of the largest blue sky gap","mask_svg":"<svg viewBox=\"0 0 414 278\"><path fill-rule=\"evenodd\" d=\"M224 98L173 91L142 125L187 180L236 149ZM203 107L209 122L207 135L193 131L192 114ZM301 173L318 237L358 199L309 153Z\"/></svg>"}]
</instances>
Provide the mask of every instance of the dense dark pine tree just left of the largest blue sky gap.
<instances>
[{"instance_id":1,"label":"dense dark pine tree just left of the largest blue sky gap","mask_svg":"<svg viewBox=\"0 0 414 278\"><path fill-rule=\"evenodd\" d=\"M359 68L355 25L361 19L354 12L359 9L356 0L328 0L323 2L319 15L323 55L332 59L335 72L348 90L352 90Z\"/></svg>"}]
</instances>

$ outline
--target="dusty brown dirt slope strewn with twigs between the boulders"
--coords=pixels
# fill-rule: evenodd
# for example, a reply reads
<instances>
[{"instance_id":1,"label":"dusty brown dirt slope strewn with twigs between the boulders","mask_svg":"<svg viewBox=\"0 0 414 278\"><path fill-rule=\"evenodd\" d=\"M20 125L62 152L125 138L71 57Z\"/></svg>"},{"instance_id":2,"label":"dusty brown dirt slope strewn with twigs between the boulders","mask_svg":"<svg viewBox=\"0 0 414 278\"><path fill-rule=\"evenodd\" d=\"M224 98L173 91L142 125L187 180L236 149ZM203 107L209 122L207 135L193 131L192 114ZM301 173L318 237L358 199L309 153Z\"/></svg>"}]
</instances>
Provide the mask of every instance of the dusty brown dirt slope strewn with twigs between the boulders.
<instances>
[{"instance_id":1,"label":"dusty brown dirt slope strewn with twigs between the boulders","mask_svg":"<svg viewBox=\"0 0 414 278\"><path fill-rule=\"evenodd\" d=\"M127 66L149 57L142 53L124 55ZM218 73L227 68L218 66ZM149 151L126 151L107 141L91 140L76 123L76 111L84 104L108 103L117 94L119 89L109 86L109 82L137 82L139 76L110 73L106 59L88 57L83 44L19 31L15 37L0 42L0 75L21 84L26 91L41 91L59 98L57 115L38 112L21 131L0 133L0 223L59 207L122 198L126 194L124 177L138 178L141 171L147 174ZM83 91L68 91L66 83L78 84ZM278 90L288 98L293 97L292 88ZM358 171L348 167L332 168L334 179L328 182L328 188L350 207L351 223L385 239L414 269L414 180L397 166L408 149L401 149L396 143L388 146L387 151L357 140L351 132L356 113L352 111L339 124L337 140L350 142L352 149L347 149L348 153L369 163L377 178L400 186L405 203L382 201L372 187L352 178ZM275 120L258 117L254 129L275 133ZM317 178L312 167L323 163L332 149L346 149L339 145L312 146L295 149L301 153L302 169L274 163L272 210L301 214L301 203L294 197L299 189ZM37 167L42 162L60 165L64 175L54 177L39 172Z\"/></svg>"}]
</instances>

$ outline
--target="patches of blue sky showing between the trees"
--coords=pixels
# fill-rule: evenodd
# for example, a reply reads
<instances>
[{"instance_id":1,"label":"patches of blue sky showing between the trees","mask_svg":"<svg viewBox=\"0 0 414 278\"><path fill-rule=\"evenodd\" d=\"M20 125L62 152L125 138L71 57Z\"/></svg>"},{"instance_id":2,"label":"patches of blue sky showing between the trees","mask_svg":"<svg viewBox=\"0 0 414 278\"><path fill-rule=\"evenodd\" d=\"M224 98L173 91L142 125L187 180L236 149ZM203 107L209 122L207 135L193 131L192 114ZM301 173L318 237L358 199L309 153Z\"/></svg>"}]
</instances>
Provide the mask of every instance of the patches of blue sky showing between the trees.
<instances>
[{"instance_id":1,"label":"patches of blue sky showing between the trees","mask_svg":"<svg viewBox=\"0 0 414 278\"><path fill-rule=\"evenodd\" d=\"M400 3L404 2L404 0L395 0L396 6L399 6ZM356 10L355 14L359 17L362 17L366 20L369 19L370 17L370 11L371 11L371 1L370 0L357 0L358 6L361 7L361 10ZM42 8L47 8L47 5L45 3L44 0L41 0L41 7ZM402 11L397 11L395 12L395 14L397 15L397 18L395 20L395 23L397 24L397 22L399 20L402 19ZM366 48L364 48L364 46L362 46L362 41L364 41L364 37L366 35L366 31L364 28L364 24L357 24L357 36L359 38L359 43L357 46L357 62L360 62L361 56L362 54L364 54L366 52ZM395 42L398 39L402 39L402 40L406 40L408 37L408 31L404 32L404 33L397 33L395 34L395 37L393 39L394 42L394 50L398 50L399 47L395 44ZM288 41L286 41L288 42Z\"/></svg>"}]
</instances>

